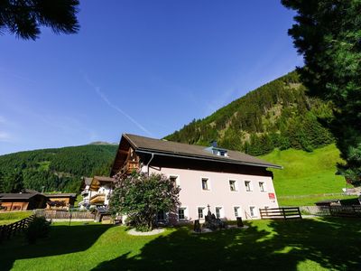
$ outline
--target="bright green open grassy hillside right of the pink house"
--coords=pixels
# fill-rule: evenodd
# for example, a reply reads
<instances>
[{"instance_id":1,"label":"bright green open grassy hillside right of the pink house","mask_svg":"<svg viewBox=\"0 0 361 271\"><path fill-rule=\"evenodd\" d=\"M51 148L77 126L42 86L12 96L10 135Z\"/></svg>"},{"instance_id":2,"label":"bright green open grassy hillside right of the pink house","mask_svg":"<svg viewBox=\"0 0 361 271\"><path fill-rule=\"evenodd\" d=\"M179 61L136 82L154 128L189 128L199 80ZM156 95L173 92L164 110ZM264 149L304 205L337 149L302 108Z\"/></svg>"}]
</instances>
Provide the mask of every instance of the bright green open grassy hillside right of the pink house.
<instances>
[{"instance_id":1,"label":"bright green open grassy hillside right of the pink house","mask_svg":"<svg viewBox=\"0 0 361 271\"><path fill-rule=\"evenodd\" d=\"M323 199L345 198L322 195L341 193L341 189L346 187L345 179L335 175L336 163L341 161L335 145L328 145L311 153L294 149L274 150L261 157L284 167L283 170L273 170L273 183L281 205L304 205ZM293 195L294 198L284 197ZM300 197L301 195L309 196Z\"/></svg>"}]
</instances>

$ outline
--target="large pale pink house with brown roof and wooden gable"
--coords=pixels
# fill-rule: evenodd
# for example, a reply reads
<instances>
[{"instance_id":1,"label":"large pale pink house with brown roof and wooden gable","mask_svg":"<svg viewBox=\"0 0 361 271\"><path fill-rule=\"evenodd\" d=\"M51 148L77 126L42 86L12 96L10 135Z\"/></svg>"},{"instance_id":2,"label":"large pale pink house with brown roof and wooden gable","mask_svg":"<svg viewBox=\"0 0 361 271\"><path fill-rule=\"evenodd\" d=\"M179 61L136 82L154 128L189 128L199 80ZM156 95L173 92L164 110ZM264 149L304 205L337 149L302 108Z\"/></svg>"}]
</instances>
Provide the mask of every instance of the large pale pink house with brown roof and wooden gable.
<instances>
[{"instance_id":1,"label":"large pale pink house with brown roof and wooden gable","mask_svg":"<svg viewBox=\"0 0 361 271\"><path fill-rule=\"evenodd\" d=\"M111 175L162 173L180 186L178 212L160 212L158 220L204 220L208 206L220 219L259 218L260 208L277 208L273 173L282 169L254 156L211 146L187 145L124 134Z\"/></svg>"}]
</instances>

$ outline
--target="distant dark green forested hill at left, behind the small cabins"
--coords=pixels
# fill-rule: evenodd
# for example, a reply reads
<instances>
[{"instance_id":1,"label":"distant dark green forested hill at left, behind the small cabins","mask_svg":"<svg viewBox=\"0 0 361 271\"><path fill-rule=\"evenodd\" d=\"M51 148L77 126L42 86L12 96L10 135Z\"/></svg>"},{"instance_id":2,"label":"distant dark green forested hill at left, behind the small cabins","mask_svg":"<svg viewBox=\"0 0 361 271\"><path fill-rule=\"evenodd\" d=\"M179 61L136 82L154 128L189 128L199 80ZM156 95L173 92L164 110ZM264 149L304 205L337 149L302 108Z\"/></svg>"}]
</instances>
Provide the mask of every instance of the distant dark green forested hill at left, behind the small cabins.
<instances>
[{"instance_id":1,"label":"distant dark green forested hill at left, behind the small cabins","mask_svg":"<svg viewBox=\"0 0 361 271\"><path fill-rule=\"evenodd\" d=\"M0 192L78 192L82 176L108 175L117 145L79 145L0 156Z\"/></svg>"}]
</instances>

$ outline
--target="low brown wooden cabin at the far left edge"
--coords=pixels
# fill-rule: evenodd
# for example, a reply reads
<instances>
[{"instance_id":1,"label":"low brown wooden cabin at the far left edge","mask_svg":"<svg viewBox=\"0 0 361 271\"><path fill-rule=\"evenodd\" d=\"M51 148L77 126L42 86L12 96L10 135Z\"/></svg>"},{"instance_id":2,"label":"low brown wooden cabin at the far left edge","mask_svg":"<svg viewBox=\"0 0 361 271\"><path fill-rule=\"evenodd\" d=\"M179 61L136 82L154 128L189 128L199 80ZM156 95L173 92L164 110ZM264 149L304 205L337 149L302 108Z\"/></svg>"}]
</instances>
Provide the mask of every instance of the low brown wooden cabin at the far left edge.
<instances>
[{"instance_id":1,"label":"low brown wooden cabin at the far left edge","mask_svg":"<svg viewBox=\"0 0 361 271\"><path fill-rule=\"evenodd\" d=\"M0 211L43 209L47 198L35 191L0 193Z\"/></svg>"}]
</instances>

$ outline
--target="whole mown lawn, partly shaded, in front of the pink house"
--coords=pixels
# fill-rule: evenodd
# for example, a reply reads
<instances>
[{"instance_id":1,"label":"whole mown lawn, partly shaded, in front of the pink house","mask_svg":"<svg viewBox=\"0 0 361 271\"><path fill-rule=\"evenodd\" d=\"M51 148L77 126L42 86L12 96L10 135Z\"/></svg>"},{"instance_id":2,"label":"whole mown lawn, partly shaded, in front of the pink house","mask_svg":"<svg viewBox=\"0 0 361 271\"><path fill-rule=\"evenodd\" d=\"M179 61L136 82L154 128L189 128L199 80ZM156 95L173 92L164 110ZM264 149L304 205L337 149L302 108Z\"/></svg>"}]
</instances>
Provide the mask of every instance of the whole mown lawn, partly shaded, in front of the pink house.
<instances>
[{"instance_id":1,"label":"whole mown lawn, partly shaded, in front of the pink house","mask_svg":"<svg viewBox=\"0 0 361 271\"><path fill-rule=\"evenodd\" d=\"M2 270L357 270L361 220L254 220L248 229L202 235L188 228L153 237L124 227L58 224L51 237L0 246Z\"/></svg>"}]
</instances>

